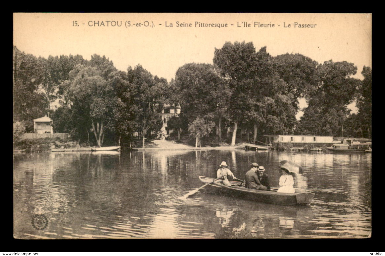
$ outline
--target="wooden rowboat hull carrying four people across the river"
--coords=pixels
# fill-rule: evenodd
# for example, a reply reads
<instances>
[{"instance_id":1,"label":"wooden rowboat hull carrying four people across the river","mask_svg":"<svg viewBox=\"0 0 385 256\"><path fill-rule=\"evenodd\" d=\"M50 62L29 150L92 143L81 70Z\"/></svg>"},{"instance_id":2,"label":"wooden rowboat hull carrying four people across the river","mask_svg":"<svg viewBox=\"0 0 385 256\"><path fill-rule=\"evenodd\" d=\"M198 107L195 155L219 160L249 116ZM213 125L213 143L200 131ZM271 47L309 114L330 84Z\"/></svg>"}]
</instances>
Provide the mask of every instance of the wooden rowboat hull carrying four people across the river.
<instances>
[{"instance_id":1,"label":"wooden rowboat hull carrying four people across the river","mask_svg":"<svg viewBox=\"0 0 385 256\"><path fill-rule=\"evenodd\" d=\"M199 180L207 184L212 182L214 179L205 176L199 176ZM314 197L314 193L310 192L296 191L295 193L278 193L275 190L262 191L256 189L247 189L241 186L243 182L231 181L230 183L231 186L226 186L214 182L206 186L206 190L209 192L236 196L241 199L281 205L310 204Z\"/></svg>"}]
</instances>

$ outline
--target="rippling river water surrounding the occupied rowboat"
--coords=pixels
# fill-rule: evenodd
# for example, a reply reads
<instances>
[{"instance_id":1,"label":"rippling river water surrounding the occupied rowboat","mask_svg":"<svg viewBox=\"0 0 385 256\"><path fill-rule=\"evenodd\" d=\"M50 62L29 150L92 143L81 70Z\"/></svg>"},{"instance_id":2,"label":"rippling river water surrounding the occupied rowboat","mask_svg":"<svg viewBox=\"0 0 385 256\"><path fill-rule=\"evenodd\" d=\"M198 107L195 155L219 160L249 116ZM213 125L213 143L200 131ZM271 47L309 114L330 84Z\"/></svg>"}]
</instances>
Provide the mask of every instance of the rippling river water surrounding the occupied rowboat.
<instances>
[{"instance_id":1,"label":"rippling river water surrounding the occupied rowboat","mask_svg":"<svg viewBox=\"0 0 385 256\"><path fill-rule=\"evenodd\" d=\"M222 161L238 178L251 162L278 186L278 163L303 167L308 206L279 206L199 191ZM18 239L368 238L372 155L278 151L45 152L13 154Z\"/></svg>"}]
</instances>

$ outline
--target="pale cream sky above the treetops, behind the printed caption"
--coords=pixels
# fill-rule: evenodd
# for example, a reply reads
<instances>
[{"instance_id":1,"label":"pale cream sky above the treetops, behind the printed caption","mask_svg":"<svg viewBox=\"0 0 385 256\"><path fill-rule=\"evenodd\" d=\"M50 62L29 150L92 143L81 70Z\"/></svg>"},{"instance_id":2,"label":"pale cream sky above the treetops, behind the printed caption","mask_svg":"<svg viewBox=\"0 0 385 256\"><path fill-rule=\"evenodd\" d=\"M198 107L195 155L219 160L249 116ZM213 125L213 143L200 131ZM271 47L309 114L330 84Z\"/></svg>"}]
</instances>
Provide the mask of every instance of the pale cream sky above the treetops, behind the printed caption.
<instances>
[{"instance_id":1,"label":"pale cream sky above the treetops, behind the printed caption","mask_svg":"<svg viewBox=\"0 0 385 256\"><path fill-rule=\"evenodd\" d=\"M227 41L253 42L256 51L266 46L272 56L299 53L318 63L352 62L358 79L363 66L372 67L367 13L13 14L13 45L25 53L80 54L87 60L105 55L119 70L141 64L167 81L184 64L212 64L215 48Z\"/></svg>"}]
</instances>

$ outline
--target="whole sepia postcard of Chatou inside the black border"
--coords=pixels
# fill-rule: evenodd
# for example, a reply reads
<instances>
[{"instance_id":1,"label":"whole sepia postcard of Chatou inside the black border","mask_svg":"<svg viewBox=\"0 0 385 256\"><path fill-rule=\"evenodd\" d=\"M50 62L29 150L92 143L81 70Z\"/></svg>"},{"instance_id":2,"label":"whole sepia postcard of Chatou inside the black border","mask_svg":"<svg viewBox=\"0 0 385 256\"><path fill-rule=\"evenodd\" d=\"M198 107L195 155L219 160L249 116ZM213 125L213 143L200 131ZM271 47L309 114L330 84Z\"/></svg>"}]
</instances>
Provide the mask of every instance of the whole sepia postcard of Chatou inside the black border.
<instances>
[{"instance_id":1,"label":"whole sepia postcard of Chatou inside the black border","mask_svg":"<svg viewBox=\"0 0 385 256\"><path fill-rule=\"evenodd\" d=\"M13 13L13 238L372 238L371 13Z\"/></svg>"}]
</instances>

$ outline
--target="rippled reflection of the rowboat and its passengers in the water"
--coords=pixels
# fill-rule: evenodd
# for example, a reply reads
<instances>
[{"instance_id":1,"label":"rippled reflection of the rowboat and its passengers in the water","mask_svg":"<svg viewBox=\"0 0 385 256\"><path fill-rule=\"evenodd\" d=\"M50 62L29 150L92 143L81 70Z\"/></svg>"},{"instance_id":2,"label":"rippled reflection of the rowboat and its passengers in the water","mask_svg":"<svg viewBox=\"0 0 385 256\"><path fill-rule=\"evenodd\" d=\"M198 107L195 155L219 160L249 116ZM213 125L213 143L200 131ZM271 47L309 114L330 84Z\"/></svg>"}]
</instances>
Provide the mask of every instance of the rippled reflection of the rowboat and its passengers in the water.
<instances>
[{"instance_id":1,"label":"rippled reflection of the rowboat and its passengers in the water","mask_svg":"<svg viewBox=\"0 0 385 256\"><path fill-rule=\"evenodd\" d=\"M313 225L309 222L314 218L309 206L264 204L208 193L203 193L196 200L202 202L204 207L214 202L207 209L205 207L203 224L210 225L215 238L277 238L281 235L300 238L300 234Z\"/></svg>"}]
</instances>

